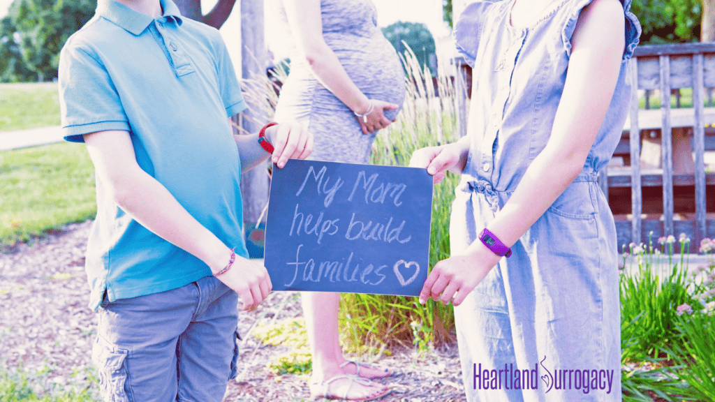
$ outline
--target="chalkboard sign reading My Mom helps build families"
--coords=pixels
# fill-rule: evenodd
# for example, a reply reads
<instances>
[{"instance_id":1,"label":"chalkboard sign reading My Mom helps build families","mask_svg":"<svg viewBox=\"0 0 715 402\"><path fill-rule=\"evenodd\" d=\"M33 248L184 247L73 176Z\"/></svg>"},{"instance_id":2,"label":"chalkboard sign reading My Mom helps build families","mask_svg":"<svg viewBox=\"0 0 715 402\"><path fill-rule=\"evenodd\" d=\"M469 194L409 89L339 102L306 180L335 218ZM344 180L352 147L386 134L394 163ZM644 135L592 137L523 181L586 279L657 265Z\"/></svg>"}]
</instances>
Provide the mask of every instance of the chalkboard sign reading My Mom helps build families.
<instances>
[{"instance_id":1,"label":"chalkboard sign reading My Mom helps build families","mask_svg":"<svg viewBox=\"0 0 715 402\"><path fill-rule=\"evenodd\" d=\"M419 295L431 215L425 169L289 160L268 202L273 290Z\"/></svg>"}]
</instances>

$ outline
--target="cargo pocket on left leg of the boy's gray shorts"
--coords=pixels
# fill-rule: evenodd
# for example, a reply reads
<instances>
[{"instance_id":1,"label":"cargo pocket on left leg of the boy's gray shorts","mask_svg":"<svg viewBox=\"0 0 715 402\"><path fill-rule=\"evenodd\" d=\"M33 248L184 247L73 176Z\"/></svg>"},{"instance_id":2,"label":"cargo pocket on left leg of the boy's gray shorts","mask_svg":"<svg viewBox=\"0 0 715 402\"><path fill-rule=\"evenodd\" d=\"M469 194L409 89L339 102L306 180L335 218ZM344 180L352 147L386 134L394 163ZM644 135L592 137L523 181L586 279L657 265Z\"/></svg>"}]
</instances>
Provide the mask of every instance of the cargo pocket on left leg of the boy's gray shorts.
<instances>
[{"instance_id":1,"label":"cargo pocket on left leg of the boy's gray shorts","mask_svg":"<svg viewBox=\"0 0 715 402\"><path fill-rule=\"evenodd\" d=\"M124 391L127 353L99 336L94 341L92 361L99 371L99 392L104 402L129 402L127 391Z\"/></svg>"}]
</instances>

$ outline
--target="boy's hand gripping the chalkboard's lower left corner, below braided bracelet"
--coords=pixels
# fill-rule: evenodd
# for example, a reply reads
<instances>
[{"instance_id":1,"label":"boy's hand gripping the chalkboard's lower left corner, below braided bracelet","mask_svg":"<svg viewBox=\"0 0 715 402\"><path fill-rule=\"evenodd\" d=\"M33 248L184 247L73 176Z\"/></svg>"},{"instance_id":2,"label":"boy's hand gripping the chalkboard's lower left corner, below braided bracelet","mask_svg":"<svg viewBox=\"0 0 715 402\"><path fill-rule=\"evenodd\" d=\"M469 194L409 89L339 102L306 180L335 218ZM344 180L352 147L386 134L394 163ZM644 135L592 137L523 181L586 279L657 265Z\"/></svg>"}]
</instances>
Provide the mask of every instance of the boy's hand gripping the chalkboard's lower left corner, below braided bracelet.
<instances>
[{"instance_id":1,"label":"boy's hand gripping the chalkboard's lower left corner, below braided bracelet","mask_svg":"<svg viewBox=\"0 0 715 402\"><path fill-rule=\"evenodd\" d=\"M243 311L255 310L273 289L268 271L261 263L239 256L230 270L216 278L238 293Z\"/></svg>"}]
</instances>

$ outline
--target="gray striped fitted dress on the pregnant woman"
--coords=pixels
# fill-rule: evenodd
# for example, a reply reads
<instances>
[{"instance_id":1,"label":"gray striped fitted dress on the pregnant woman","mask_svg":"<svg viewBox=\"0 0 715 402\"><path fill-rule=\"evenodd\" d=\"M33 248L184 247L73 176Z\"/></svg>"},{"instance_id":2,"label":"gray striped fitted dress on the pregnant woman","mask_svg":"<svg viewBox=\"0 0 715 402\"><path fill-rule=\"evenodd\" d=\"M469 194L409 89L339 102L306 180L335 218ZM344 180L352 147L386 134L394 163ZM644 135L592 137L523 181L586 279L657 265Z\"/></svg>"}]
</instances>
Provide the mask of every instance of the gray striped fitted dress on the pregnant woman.
<instances>
[{"instance_id":1,"label":"gray striped fitted dress on the pregnant woman","mask_svg":"<svg viewBox=\"0 0 715 402\"><path fill-rule=\"evenodd\" d=\"M297 120L315 138L312 160L367 163L376 132L363 134L352 111L317 81L297 52L281 0L277 1L282 37L291 53L275 121ZM402 107L405 75L397 52L377 26L371 0L321 0L322 34L345 72L370 99ZM385 110L392 120L398 110Z\"/></svg>"}]
</instances>

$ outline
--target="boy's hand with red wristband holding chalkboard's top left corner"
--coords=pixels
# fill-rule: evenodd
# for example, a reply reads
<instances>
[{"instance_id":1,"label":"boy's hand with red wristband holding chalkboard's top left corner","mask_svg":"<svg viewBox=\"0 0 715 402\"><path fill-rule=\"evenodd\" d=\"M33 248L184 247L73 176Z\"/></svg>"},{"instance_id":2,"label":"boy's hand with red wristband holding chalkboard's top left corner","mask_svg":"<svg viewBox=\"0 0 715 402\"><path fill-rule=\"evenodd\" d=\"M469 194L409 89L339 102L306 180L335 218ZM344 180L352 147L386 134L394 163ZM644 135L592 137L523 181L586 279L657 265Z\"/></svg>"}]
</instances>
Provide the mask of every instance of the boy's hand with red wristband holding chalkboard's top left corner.
<instances>
[{"instance_id":1,"label":"boy's hand with red wristband holding chalkboard's top left corner","mask_svg":"<svg viewBox=\"0 0 715 402\"><path fill-rule=\"evenodd\" d=\"M289 159L305 159L312 152L312 134L298 122L277 124L266 129L273 145L272 162L284 167Z\"/></svg>"}]
</instances>

